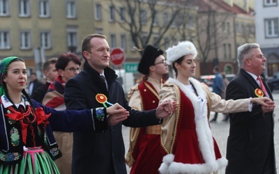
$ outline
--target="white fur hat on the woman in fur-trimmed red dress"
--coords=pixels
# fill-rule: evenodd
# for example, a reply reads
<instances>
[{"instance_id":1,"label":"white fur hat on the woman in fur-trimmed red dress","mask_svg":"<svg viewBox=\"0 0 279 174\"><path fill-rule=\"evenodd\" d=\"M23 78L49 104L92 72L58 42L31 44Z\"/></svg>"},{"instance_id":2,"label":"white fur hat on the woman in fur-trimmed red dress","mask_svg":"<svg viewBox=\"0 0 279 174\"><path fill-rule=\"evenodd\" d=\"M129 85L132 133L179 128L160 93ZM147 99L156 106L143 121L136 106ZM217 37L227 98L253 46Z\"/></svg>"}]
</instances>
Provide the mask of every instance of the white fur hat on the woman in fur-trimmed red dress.
<instances>
[{"instance_id":1,"label":"white fur hat on the woman in fur-trimmed red dress","mask_svg":"<svg viewBox=\"0 0 279 174\"><path fill-rule=\"evenodd\" d=\"M197 56L197 49L190 41L179 42L178 45L169 47L166 52L167 64L169 65L172 65L174 61L188 54L192 54L194 58Z\"/></svg>"}]
</instances>

